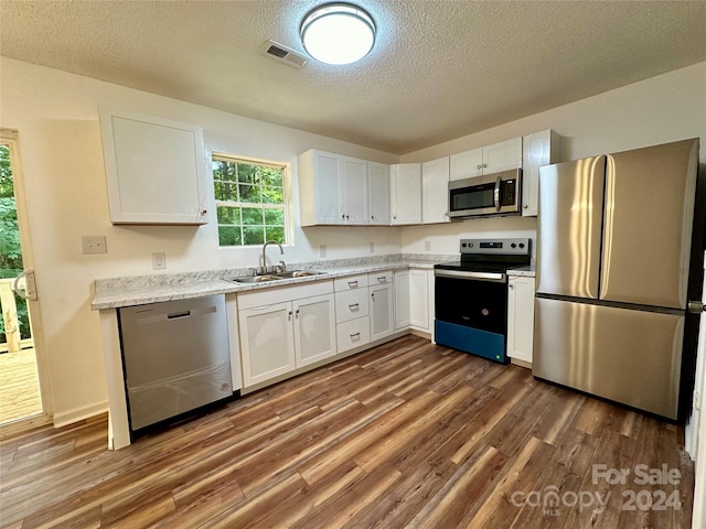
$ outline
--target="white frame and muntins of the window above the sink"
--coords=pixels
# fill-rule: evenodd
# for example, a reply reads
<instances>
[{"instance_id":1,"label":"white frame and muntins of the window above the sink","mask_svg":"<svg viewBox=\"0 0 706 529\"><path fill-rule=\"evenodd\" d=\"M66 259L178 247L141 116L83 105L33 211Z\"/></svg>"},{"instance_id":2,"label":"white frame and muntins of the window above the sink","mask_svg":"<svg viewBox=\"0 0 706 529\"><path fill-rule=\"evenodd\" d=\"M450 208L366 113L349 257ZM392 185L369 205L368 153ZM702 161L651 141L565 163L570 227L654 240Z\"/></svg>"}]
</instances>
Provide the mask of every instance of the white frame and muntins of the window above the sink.
<instances>
[{"instance_id":1,"label":"white frame and muntins of the window above the sink","mask_svg":"<svg viewBox=\"0 0 706 529\"><path fill-rule=\"evenodd\" d=\"M268 204L268 203L263 203L263 202L253 202L253 203L246 203L246 202L232 202L232 201L222 201L216 198L215 196L215 183L216 182L223 182L223 183L228 183L228 184L233 184L234 182L231 181L223 181L223 180L217 180L215 179L214 174L213 174L213 162L214 161L222 161L222 162L231 162L231 163L236 163L236 164L244 164L244 165L258 165L258 166L265 166L265 168L272 168L272 169L279 169L282 172L282 203L281 204ZM276 161L271 161L271 160L263 160L263 159L257 159L257 158L249 158L249 156L239 156L239 155L235 155L235 154L228 154L228 153L224 153L224 152L216 152L213 151L211 153L211 185L213 186L213 197L214 197L214 204L215 204L215 213L216 213L216 240L217 240L217 246L220 249L223 248L257 248L258 246L261 246L264 242L266 242L268 239L266 238L266 236L264 237L264 241L263 242L258 242L255 245L246 245L246 244L239 244L239 245L221 245L221 237L220 237L220 233L218 233L218 228L222 226L227 226L227 225L222 225L218 223L218 207L233 207L233 208L243 208L243 207L250 207L250 208L258 208L258 209L284 209L284 238L285 241L282 242L282 246L292 246L293 245L293 228L291 225L291 214L290 214L290 204L291 204L291 188L290 188L290 174L291 174L291 168L289 163L286 162L276 162ZM238 225L235 225L238 226ZM240 227L240 238L242 240L244 240L244 236L243 236L243 225L239 225ZM263 227L267 227L266 224L263 224Z\"/></svg>"}]
</instances>

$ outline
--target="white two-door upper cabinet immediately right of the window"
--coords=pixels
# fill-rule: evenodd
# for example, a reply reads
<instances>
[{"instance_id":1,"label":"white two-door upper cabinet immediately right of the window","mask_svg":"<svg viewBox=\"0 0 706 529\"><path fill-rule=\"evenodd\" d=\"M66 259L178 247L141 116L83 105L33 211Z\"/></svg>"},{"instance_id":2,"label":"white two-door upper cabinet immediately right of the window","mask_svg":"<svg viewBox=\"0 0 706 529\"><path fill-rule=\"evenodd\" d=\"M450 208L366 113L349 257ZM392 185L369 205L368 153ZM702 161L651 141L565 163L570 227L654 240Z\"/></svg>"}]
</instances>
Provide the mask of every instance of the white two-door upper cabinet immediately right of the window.
<instances>
[{"instance_id":1,"label":"white two-door upper cabinet immediately right of the window","mask_svg":"<svg viewBox=\"0 0 706 529\"><path fill-rule=\"evenodd\" d=\"M310 150L299 155L302 226L368 224L367 162Z\"/></svg>"}]
</instances>

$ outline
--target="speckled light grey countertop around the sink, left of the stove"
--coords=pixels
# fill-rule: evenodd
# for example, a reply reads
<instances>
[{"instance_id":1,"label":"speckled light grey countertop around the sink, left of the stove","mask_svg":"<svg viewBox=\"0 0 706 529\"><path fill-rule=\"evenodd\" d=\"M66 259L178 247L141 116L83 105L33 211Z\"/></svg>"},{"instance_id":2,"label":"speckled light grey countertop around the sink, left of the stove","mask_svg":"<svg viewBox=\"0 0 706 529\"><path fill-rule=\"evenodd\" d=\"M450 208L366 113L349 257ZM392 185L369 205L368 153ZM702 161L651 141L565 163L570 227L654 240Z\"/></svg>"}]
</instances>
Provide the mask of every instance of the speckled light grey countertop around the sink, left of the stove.
<instances>
[{"instance_id":1,"label":"speckled light grey countertop around the sink, left of the stove","mask_svg":"<svg viewBox=\"0 0 706 529\"><path fill-rule=\"evenodd\" d=\"M120 306L143 305L172 300L186 300L213 294L271 289L310 281L322 281L356 273L398 270L405 268L434 268L435 264L458 259L458 256L404 253L376 258L338 259L288 264L289 270L317 270L318 276L288 278L263 283L236 283L234 278L252 276L252 269L215 270L174 274L132 276L97 279L90 307L94 311ZM534 273L534 272L533 272Z\"/></svg>"}]
</instances>

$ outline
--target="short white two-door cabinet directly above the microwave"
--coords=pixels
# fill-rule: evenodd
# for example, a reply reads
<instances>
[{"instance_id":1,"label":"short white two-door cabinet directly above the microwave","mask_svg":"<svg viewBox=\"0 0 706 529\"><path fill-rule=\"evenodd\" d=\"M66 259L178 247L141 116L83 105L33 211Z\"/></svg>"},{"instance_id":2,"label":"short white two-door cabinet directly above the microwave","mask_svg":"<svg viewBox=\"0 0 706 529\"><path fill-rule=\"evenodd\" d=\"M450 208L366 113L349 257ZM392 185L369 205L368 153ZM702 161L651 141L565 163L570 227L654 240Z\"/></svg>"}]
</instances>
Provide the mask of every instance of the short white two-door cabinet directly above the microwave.
<instances>
[{"instance_id":1,"label":"short white two-door cabinet directly above the microwave","mask_svg":"<svg viewBox=\"0 0 706 529\"><path fill-rule=\"evenodd\" d=\"M522 138L493 143L450 156L450 180L522 168Z\"/></svg>"}]
</instances>

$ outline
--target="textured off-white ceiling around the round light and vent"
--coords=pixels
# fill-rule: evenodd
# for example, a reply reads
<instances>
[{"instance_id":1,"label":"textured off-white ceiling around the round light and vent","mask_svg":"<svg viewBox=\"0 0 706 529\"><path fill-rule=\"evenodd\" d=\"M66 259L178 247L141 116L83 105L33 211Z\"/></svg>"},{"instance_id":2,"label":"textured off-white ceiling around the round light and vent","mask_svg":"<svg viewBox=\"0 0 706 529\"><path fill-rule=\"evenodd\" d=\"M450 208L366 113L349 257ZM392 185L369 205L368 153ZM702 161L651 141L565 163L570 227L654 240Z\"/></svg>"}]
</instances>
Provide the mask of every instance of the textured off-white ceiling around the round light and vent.
<instances>
[{"instance_id":1,"label":"textured off-white ceiling around the round light and vent","mask_svg":"<svg viewBox=\"0 0 706 529\"><path fill-rule=\"evenodd\" d=\"M706 61L704 1L360 0L363 61L260 54L320 3L0 0L0 53L397 154Z\"/></svg>"}]
</instances>

